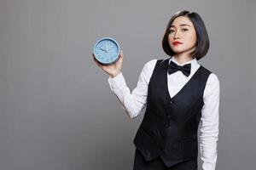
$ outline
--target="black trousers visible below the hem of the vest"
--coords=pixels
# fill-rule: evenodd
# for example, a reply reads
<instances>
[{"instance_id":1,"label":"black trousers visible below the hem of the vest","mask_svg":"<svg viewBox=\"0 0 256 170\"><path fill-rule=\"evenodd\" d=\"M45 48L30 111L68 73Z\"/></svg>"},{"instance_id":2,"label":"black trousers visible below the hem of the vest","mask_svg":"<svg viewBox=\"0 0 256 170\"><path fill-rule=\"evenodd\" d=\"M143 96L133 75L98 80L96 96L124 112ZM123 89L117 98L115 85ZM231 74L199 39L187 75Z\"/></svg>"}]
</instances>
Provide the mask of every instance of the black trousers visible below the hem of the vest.
<instances>
[{"instance_id":1,"label":"black trousers visible below the hem of the vest","mask_svg":"<svg viewBox=\"0 0 256 170\"><path fill-rule=\"evenodd\" d=\"M197 170L197 159L177 163L173 167L166 167L160 157L146 161L142 153L136 149L133 170Z\"/></svg>"}]
</instances>

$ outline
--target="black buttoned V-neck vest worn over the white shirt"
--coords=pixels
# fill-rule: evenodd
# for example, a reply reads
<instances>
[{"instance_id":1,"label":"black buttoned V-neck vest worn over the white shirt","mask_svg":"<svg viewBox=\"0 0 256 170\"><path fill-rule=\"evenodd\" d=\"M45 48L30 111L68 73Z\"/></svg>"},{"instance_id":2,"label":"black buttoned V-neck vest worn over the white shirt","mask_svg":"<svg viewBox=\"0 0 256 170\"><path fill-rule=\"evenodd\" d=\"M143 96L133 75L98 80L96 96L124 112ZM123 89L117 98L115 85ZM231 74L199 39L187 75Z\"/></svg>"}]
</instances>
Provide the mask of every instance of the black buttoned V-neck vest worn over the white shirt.
<instances>
[{"instance_id":1,"label":"black buttoned V-neck vest worn over the white shirt","mask_svg":"<svg viewBox=\"0 0 256 170\"><path fill-rule=\"evenodd\" d=\"M198 156L197 129L204 105L203 93L211 74L200 66L171 98L168 92L169 59L159 59L148 83L147 107L133 140L147 161L160 156L167 167Z\"/></svg>"}]
</instances>

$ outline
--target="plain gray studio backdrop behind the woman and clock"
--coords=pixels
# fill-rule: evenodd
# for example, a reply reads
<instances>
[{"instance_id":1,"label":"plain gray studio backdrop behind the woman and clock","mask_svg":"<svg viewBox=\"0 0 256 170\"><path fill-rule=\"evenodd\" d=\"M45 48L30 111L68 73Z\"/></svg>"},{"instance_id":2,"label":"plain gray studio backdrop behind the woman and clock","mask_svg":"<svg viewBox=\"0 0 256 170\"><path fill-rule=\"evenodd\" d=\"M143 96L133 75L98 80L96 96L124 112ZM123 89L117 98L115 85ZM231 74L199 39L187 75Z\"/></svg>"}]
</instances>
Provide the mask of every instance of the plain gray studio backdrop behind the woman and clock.
<instances>
[{"instance_id":1,"label":"plain gray studio backdrop behind the woman and clock","mask_svg":"<svg viewBox=\"0 0 256 170\"><path fill-rule=\"evenodd\" d=\"M205 21L211 47L199 62L220 80L217 169L256 169L255 8L253 0L1 0L0 169L132 169L143 113L125 114L92 48L100 37L119 42L132 90L148 60L167 57L161 38L183 9Z\"/></svg>"}]
</instances>

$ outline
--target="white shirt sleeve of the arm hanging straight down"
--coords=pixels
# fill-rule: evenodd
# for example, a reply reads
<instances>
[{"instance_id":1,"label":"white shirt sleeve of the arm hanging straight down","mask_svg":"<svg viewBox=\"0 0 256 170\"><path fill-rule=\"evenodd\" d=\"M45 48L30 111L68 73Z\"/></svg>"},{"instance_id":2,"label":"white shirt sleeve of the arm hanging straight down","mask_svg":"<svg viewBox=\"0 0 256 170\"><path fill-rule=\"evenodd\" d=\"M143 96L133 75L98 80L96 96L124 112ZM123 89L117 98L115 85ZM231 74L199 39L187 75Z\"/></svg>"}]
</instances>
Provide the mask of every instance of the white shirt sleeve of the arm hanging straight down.
<instances>
[{"instance_id":1,"label":"white shirt sleeve of the arm hanging straight down","mask_svg":"<svg viewBox=\"0 0 256 170\"><path fill-rule=\"evenodd\" d=\"M200 150L203 170L215 170L217 161L219 81L211 73L204 91L201 110Z\"/></svg>"}]
</instances>

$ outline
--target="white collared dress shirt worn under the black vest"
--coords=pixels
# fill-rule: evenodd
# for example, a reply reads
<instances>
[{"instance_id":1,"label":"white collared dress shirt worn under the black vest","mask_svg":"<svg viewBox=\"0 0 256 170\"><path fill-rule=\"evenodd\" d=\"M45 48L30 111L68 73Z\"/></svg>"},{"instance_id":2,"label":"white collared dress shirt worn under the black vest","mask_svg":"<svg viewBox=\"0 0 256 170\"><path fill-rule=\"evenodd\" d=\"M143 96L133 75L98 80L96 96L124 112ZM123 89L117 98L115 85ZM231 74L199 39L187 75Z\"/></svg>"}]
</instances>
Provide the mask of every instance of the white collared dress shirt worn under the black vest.
<instances>
[{"instance_id":1,"label":"white collared dress shirt worn under the black vest","mask_svg":"<svg viewBox=\"0 0 256 170\"><path fill-rule=\"evenodd\" d=\"M174 57L169 59L169 63L171 60L177 65L181 65L177 63L177 60ZM116 77L108 77L108 83L111 90L117 96L122 108L128 116L131 117L131 119L138 116L147 105L148 82L154 71L156 61L157 59L152 59L143 66L143 71L138 79L137 87L133 89L132 93L130 88L126 86L125 77L122 72L120 72ZM182 65L186 65L188 63L191 63L189 77L184 76L182 71L176 71L170 75L166 71L168 91L171 98L183 88L183 86L195 74L195 71L200 67L196 59L192 59ZM211 73L207 79L203 99L204 105L201 110L200 127L202 169L214 170L217 161L219 113L219 81L218 77L214 73Z\"/></svg>"}]
</instances>

